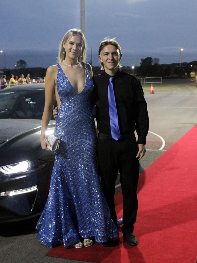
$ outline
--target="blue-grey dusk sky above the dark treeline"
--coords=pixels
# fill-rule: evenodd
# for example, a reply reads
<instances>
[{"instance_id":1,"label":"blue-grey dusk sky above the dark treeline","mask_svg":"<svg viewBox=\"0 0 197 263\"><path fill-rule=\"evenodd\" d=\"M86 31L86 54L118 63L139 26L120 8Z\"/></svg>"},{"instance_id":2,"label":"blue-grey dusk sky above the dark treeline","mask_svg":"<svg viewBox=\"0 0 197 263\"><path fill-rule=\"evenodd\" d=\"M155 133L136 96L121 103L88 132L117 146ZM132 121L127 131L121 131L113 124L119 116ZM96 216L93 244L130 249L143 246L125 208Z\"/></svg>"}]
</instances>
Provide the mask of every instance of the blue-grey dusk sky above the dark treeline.
<instances>
[{"instance_id":1,"label":"blue-grey dusk sky above the dark treeline","mask_svg":"<svg viewBox=\"0 0 197 263\"><path fill-rule=\"evenodd\" d=\"M93 66L105 36L116 37L123 52L122 65L140 65L151 56L159 63L197 60L196 1L185 0L85 0L87 60L92 47ZM18 59L28 67L56 63L58 45L71 28L80 28L80 0L26 0L1 4L0 49L7 68ZM0 53L0 69L4 56Z\"/></svg>"}]
</instances>

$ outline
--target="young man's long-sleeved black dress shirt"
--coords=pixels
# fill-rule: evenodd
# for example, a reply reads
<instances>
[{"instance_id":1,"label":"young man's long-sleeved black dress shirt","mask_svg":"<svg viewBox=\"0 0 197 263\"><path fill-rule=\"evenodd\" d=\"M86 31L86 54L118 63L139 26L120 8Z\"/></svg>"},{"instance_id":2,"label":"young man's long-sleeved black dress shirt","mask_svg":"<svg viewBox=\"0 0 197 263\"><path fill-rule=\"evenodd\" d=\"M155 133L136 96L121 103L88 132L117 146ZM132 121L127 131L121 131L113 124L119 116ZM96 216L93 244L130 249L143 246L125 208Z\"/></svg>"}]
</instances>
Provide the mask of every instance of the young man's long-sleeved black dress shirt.
<instances>
[{"instance_id":1,"label":"young man's long-sleeved black dress shirt","mask_svg":"<svg viewBox=\"0 0 197 263\"><path fill-rule=\"evenodd\" d=\"M111 135L109 122L108 85L105 71L93 76L92 106L96 105L96 120L100 133ZM113 76L113 87L121 135L138 134L138 143L145 144L149 130L149 117L143 89L139 80L119 69Z\"/></svg>"}]
</instances>

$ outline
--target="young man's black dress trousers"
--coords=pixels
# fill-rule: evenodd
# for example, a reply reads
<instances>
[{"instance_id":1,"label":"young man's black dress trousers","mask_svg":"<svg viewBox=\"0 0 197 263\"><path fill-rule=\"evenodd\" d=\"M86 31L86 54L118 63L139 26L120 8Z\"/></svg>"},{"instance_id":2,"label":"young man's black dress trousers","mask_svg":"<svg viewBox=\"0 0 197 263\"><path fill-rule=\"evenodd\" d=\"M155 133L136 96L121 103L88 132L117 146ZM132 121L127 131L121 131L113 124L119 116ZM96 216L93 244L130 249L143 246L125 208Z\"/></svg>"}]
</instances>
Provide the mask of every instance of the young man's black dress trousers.
<instances>
[{"instance_id":1,"label":"young man's black dress trousers","mask_svg":"<svg viewBox=\"0 0 197 263\"><path fill-rule=\"evenodd\" d=\"M139 179L138 144L135 136L113 140L98 137L98 165L101 185L109 206L113 221L117 225L115 212L115 181L120 172L123 194L123 233L133 232L138 210L137 185Z\"/></svg>"}]
</instances>

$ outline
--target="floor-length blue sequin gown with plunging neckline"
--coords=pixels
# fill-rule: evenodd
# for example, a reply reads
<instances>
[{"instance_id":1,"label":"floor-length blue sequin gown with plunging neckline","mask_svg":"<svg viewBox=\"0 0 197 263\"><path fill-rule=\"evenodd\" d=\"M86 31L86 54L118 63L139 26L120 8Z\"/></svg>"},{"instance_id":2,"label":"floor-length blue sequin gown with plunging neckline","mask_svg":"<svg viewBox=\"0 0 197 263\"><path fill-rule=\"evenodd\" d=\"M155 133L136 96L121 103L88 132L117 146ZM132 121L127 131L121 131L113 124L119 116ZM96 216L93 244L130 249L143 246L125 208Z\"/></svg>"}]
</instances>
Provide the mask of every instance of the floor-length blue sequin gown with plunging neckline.
<instances>
[{"instance_id":1,"label":"floor-length blue sequin gown with plunging neckline","mask_svg":"<svg viewBox=\"0 0 197 263\"><path fill-rule=\"evenodd\" d=\"M105 242L118 234L100 185L96 162L95 123L90 106L92 77L82 63L86 80L77 93L57 64L61 106L55 124L60 138L55 151L48 200L36 225L42 244L68 247L79 238Z\"/></svg>"}]
</instances>

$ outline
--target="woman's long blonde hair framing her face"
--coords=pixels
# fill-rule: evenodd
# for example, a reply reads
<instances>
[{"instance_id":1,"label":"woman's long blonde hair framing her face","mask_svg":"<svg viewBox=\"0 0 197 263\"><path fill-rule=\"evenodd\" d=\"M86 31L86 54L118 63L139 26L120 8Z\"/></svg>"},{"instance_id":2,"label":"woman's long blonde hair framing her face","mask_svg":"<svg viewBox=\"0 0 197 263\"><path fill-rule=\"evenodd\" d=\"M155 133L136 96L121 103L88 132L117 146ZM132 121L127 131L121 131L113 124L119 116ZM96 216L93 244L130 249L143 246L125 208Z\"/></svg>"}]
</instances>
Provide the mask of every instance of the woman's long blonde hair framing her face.
<instances>
[{"instance_id":1,"label":"woman's long blonde hair framing her face","mask_svg":"<svg viewBox=\"0 0 197 263\"><path fill-rule=\"evenodd\" d=\"M65 57L66 57L66 53L63 54L63 41L67 41L69 38L71 38L73 35L79 35L82 37L82 41L83 41L83 46L82 46L82 52L80 54L80 56L78 57L78 61L79 62L85 62L86 59L86 41L85 41L85 36L83 34L83 32L80 29L77 28L73 28L68 30L68 32L65 33L62 41L59 44L59 53L58 53L58 63L62 62Z\"/></svg>"}]
</instances>

